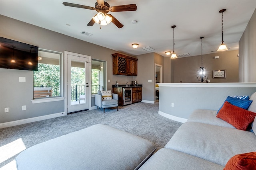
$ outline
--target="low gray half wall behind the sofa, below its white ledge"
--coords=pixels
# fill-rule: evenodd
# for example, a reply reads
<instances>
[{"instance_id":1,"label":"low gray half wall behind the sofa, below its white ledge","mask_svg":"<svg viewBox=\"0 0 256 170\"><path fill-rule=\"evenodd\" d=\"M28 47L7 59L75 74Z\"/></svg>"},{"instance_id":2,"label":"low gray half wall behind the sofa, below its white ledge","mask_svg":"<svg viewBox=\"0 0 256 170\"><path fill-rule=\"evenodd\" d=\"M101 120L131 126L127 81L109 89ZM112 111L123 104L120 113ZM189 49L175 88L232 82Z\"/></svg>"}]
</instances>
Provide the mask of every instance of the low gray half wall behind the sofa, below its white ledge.
<instances>
[{"instance_id":1,"label":"low gray half wall behind the sofa, below its white ledge","mask_svg":"<svg viewBox=\"0 0 256 170\"><path fill-rule=\"evenodd\" d=\"M177 87L159 85L159 111L187 119L195 109L218 110L227 96L251 96L256 92L256 84L254 88L184 87L184 85L186 86L186 83L178 84ZM174 103L174 107L171 107L171 103Z\"/></svg>"}]
</instances>

